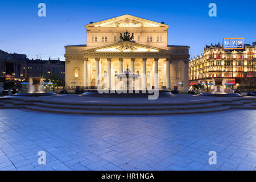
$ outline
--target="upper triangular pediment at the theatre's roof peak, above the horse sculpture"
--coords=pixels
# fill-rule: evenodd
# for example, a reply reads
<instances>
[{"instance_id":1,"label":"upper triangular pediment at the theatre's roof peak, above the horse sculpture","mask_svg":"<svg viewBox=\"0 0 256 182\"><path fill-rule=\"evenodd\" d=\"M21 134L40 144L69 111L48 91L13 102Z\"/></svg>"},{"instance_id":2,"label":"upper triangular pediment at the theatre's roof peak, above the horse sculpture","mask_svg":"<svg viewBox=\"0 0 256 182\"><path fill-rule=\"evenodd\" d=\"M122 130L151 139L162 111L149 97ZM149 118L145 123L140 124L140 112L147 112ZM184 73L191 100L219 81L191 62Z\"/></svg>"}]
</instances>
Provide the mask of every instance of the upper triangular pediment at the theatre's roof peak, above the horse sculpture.
<instances>
[{"instance_id":1,"label":"upper triangular pediment at the theatre's roof peak, above the horse sculpture","mask_svg":"<svg viewBox=\"0 0 256 182\"><path fill-rule=\"evenodd\" d=\"M132 15L122 15L101 22L87 24L85 27L169 27L167 24L153 22Z\"/></svg>"}]
</instances>

